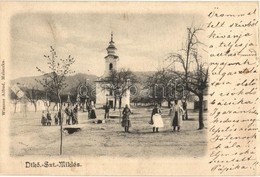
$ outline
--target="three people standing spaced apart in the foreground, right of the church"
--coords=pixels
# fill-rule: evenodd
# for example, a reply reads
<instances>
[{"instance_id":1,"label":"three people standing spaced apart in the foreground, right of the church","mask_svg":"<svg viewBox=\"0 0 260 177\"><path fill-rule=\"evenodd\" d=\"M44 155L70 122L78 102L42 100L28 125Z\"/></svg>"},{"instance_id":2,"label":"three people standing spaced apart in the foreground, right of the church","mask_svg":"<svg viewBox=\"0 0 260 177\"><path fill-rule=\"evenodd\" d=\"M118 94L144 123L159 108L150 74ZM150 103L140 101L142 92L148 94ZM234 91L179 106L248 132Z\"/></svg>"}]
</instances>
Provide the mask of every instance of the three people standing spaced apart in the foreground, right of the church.
<instances>
[{"instance_id":1,"label":"three people standing spaced apart in the foreground, right of the church","mask_svg":"<svg viewBox=\"0 0 260 177\"><path fill-rule=\"evenodd\" d=\"M173 131L180 131L181 122L185 119L186 107L183 107L178 103L178 100L174 101L174 104L171 105L169 116L171 118L170 124L173 127ZM124 127L125 132L129 132L129 127L131 127L131 110L128 105L126 105L123 109L123 117L122 117L122 127ZM149 124L152 125L152 131L159 132L159 128L164 127L163 119L162 119L162 111L160 107L156 104L152 110L151 119Z\"/></svg>"}]
</instances>

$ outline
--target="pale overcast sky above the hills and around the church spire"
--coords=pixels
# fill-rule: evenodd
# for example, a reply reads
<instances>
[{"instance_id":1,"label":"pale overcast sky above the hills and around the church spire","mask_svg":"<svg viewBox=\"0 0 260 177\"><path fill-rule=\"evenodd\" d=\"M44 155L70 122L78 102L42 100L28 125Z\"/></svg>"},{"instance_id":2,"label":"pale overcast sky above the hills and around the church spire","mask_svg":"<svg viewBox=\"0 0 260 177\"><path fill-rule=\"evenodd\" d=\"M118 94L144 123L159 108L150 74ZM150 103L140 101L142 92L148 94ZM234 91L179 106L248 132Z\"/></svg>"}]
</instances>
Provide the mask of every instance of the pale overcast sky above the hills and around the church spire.
<instances>
[{"instance_id":1,"label":"pale overcast sky above the hills and around the church spire","mask_svg":"<svg viewBox=\"0 0 260 177\"><path fill-rule=\"evenodd\" d=\"M11 78L40 75L36 66L47 70L43 55L50 46L59 57L76 59L76 73L100 76L111 31L119 68L154 71L181 48L192 23L204 21L193 14L19 14L11 21Z\"/></svg>"}]
</instances>

